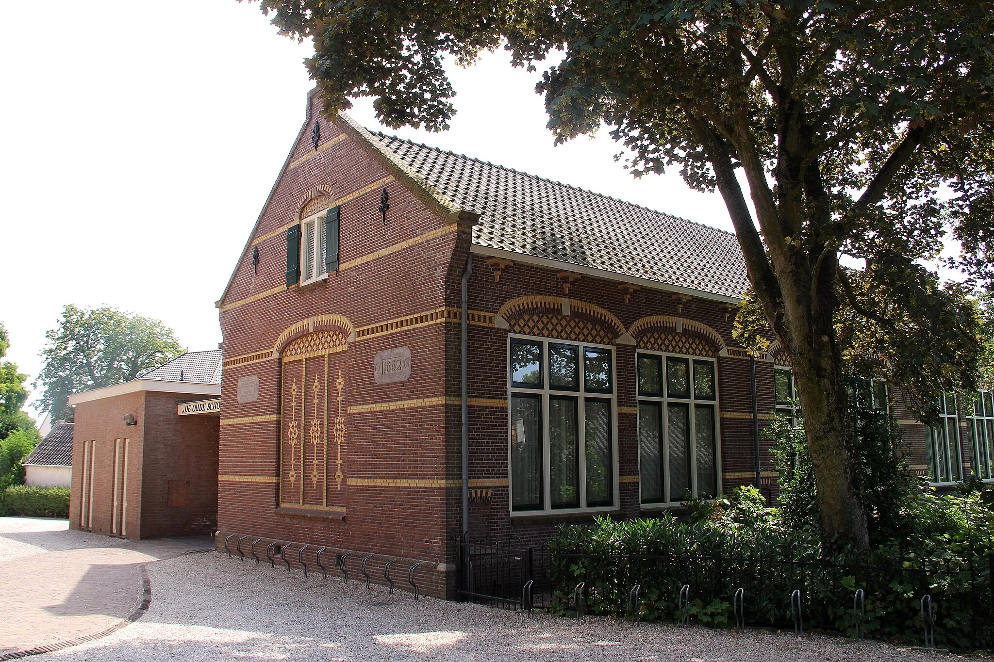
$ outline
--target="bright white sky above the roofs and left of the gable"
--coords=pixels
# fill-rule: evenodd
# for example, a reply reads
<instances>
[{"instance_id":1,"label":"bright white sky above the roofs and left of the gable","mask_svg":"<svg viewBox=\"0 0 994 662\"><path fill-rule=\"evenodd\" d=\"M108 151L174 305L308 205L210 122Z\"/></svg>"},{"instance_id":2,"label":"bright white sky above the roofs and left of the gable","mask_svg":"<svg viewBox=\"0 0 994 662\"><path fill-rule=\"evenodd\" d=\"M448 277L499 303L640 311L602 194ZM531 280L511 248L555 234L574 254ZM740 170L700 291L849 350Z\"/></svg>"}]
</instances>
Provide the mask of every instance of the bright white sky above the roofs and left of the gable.
<instances>
[{"instance_id":1,"label":"bright white sky above the roofs and left of the gable","mask_svg":"<svg viewBox=\"0 0 994 662\"><path fill-rule=\"evenodd\" d=\"M4 3L0 21L0 322L33 381L67 304L221 341L217 301L304 119L307 44L235 0ZM679 175L633 180L606 135L554 147L535 73L507 55L453 67L442 134L367 127L731 229ZM29 407L37 393L29 401ZM29 408L29 412L37 415Z\"/></svg>"}]
</instances>

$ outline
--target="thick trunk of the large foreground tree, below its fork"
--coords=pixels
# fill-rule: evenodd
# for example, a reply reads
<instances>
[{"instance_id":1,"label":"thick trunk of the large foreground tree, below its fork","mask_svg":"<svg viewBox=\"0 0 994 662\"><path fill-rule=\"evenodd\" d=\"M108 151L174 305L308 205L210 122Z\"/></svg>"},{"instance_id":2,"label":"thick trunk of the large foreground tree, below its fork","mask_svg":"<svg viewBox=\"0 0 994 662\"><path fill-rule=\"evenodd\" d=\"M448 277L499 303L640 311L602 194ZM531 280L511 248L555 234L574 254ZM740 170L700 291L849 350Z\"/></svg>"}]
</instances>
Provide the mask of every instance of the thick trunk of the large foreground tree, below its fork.
<instances>
[{"instance_id":1,"label":"thick trunk of the large foreground tree, below its fork","mask_svg":"<svg viewBox=\"0 0 994 662\"><path fill-rule=\"evenodd\" d=\"M848 541L865 548L867 518L860 499L842 357L834 339L826 342L821 337L814 342L794 338L790 353L814 465L821 530L830 544Z\"/></svg>"}]
</instances>

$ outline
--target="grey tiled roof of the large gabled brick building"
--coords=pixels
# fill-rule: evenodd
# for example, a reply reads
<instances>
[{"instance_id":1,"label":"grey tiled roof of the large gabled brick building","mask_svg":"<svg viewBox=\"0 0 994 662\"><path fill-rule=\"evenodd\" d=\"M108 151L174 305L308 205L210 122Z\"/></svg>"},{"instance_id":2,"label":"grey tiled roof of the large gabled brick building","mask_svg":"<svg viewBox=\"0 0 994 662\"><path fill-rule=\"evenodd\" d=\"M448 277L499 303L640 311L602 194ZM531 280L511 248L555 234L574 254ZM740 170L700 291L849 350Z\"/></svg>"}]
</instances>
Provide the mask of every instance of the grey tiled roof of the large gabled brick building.
<instances>
[{"instance_id":1,"label":"grey tiled roof of the large gabled brick building","mask_svg":"<svg viewBox=\"0 0 994 662\"><path fill-rule=\"evenodd\" d=\"M462 208L473 243L739 298L748 288L734 234L559 182L373 134Z\"/></svg>"}]
</instances>

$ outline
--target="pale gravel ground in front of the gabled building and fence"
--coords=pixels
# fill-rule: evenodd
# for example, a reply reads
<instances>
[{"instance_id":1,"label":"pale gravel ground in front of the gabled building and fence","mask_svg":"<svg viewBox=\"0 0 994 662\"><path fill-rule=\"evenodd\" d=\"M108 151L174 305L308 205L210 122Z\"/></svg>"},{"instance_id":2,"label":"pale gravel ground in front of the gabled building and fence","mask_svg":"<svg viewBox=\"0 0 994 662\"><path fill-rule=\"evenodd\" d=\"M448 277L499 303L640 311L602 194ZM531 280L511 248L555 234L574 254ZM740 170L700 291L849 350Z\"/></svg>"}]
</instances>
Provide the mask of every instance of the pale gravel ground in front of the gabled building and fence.
<instances>
[{"instance_id":1,"label":"pale gravel ground in front of the gabled building and fence","mask_svg":"<svg viewBox=\"0 0 994 662\"><path fill-rule=\"evenodd\" d=\"M839 637L529 618L383 587L321 581L216 552L148 566L145 615L59 660L933 660L937 653ZM36 658L40 659L40 658Z\"/></svg>"}]
</instances>

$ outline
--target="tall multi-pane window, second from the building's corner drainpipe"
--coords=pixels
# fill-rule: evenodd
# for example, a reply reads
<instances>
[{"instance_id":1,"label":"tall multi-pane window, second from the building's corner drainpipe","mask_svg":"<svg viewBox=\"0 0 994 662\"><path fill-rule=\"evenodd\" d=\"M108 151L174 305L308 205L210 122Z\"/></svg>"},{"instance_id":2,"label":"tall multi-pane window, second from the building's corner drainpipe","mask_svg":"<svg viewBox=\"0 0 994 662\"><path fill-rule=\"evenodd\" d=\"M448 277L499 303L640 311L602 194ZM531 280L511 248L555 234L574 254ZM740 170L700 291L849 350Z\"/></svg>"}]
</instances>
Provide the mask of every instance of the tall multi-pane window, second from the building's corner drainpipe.
<instances>
[{"instance_id":1,"label":"tall multi-pane window, second from the building's corner drainpipe","mask_svg":"<svg viewBox=\"0 0 994 662\"><path fill-rule=\"evenodd\" d=\"M718 493L715 361L638 353L638 448L642 503Z\"/></svg>"}]
</instances>

